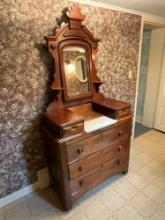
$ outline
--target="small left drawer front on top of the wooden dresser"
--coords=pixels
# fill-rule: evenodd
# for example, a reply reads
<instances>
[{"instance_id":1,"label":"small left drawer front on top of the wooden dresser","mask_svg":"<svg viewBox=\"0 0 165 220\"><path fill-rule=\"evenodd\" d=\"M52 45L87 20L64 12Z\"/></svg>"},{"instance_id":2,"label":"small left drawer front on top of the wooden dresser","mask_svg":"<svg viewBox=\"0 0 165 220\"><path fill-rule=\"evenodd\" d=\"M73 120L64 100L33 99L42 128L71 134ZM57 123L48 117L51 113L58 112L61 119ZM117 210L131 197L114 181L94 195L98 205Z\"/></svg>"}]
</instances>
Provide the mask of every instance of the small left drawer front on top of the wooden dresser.
<instances>
[{"instance_id":1,"label":"small left drawer front on top of the wooden dresser","mask_svg":"<svg viewBox=\"0 0 165 220\"><path fill-rule=\"evenodd\" d=\"M84 123L80 122L77 124L63 127L63 136L69 136L69 135L81 133L83 131L84 131Z\"/></svg>"}]
</instances>

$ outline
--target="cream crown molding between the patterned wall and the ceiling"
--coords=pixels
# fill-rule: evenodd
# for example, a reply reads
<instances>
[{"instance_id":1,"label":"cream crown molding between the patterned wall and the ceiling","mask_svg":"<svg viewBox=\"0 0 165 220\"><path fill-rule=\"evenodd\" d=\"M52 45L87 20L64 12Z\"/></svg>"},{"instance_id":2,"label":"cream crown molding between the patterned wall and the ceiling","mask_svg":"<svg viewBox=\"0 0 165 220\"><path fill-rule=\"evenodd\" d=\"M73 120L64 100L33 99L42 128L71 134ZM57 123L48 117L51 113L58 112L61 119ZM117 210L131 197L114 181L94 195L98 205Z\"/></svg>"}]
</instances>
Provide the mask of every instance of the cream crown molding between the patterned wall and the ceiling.
<instances>
[{"instance_id":1,"label":"cream crown molding between the patterned wall and the ceiling","mask_svg":"<svg viewBox=\"0 0 165 220\"><path fill-rule=\"evenodd\" d=\"M93 6L96 6L96 7L102 7L102 8L115 10L115 11L140 15L140 16L143 17L143 20L144 20L145 23L155 24L155 25L162 25L162 26L165 25L165 18L164 17L144 13L144 12L141 12L141 11L136 11L136 10L133 10L133 9L123 8L123 7L115 6L115 5L108 4L108 3L97 2L97 1L94 1L94 0L68 0L68 1L79 2L81 4L93 5Z\"/></svg>"}]
</instances>

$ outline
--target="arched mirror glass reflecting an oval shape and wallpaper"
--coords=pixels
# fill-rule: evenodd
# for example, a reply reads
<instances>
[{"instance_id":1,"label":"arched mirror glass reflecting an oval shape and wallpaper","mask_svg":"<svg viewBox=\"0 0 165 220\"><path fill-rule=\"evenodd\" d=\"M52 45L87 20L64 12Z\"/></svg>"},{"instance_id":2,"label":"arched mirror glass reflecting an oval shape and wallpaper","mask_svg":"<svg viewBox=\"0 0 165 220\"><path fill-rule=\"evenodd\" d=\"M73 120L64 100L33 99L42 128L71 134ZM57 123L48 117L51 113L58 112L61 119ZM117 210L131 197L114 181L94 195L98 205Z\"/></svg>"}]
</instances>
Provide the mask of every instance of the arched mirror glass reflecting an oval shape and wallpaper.
<instances>
[{"instance_id":1,"label":"arched mirror glass reflecting an oval shape and wallpaper","mask_svg":"<svg viewBox=\"0 0 165 220\"><path fill-rule=\"evenodd\" d=\"M65 47L63 60L68 96L89 92L86 50L78 46Z\"/></svg>"}]
</instances>

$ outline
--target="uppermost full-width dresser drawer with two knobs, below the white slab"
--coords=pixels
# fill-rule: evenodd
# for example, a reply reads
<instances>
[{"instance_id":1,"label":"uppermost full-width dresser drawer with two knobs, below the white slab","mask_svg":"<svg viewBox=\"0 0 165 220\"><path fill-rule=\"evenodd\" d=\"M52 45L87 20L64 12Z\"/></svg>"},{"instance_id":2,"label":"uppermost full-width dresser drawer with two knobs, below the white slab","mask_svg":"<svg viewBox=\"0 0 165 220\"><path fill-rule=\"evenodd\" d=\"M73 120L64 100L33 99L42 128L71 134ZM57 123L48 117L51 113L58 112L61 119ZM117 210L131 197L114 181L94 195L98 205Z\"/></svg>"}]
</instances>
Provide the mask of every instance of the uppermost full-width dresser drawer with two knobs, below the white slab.
<instances>
[{"instance_id":1,"label":"uppermost full-width dresser drawer with two knobs, below the white slab","mask_svg":"<svg viewBox=\"0 0 165 220\"><path fill-rule=\"evenodd\" d=\"M105 148L115 141L120 141L131 133L130 122L113 127L85 140L67 146L68 161L81 159L89 154Z\"/></svg>"}]
</instances>

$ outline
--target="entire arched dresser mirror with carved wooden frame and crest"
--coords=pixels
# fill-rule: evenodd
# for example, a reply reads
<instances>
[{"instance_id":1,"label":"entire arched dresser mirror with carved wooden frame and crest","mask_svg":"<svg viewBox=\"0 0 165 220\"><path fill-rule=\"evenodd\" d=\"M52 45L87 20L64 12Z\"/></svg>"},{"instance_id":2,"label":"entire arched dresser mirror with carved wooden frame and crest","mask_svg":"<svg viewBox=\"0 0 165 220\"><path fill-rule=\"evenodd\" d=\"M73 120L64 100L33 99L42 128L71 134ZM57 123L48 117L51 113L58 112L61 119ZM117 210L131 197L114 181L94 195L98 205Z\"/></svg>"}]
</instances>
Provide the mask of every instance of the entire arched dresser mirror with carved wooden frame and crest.
<instances>
[{"instance_id":1,"label":"entire arched dresser mirror with carved wooden frame and crest","mask_svg":"<svg viewBox=\"0 0 165 220\"><path fill-rule=\"evenodd\" d=\"M82 24L85 15L78 5L66 15L69 22L61 25L55 35L46 37L56 70L51 85L54 103L49 109L90 102L100 96L101 81L95 69L99 40Z\"/></svg>"}]
</instances>

